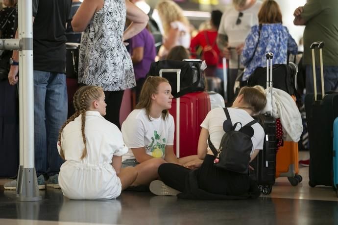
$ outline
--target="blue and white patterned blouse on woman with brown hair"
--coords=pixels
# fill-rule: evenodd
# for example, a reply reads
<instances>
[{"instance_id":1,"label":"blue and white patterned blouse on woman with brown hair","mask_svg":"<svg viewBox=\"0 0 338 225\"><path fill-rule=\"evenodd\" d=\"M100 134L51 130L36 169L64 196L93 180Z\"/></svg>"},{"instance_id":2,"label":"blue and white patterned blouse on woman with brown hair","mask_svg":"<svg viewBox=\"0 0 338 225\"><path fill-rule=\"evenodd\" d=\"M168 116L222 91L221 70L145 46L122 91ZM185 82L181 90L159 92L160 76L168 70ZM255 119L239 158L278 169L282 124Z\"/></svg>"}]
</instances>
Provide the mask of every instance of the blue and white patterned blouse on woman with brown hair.
<instances>
[{"instance_id":1,"label":"blue and white patterned blouse on woman with brown hair","mask_svg":"<svg viewBox=\"0 0 338 225\"><path fill-rule=\"evenodd\" d=\"M254 25L245 39L241 63L244 65L242 80L249 78L257 67L266 67L266 52L273 53L273 64L287 64L288 51L297 54L297 44L291 37L289 30L281 23L264 23L261 29L261 36L258 41L259 26ZM254 52L255 51L255 52ZM250 61L252 55L255 54Z\"/></svg>"}]
</instances>

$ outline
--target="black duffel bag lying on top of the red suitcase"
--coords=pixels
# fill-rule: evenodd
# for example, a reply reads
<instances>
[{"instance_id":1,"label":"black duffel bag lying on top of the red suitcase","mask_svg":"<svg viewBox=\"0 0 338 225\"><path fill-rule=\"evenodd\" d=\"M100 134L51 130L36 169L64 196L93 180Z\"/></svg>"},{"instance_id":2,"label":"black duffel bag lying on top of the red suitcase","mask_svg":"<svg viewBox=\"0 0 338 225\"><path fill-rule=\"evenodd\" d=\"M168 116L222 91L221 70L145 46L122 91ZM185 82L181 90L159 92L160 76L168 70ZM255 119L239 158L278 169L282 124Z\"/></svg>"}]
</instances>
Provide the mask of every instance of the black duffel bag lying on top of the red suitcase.
<instances>
[{"instance_id":1,"label":"black duffel bag lying on top of the red suitcase","mask_svg":"<svg viewBox=\"0 0 338 225\"><path fill-rule=\"evenodd\" d=\"M171 94L174 98L194 91L203 91L205 88L204 73L201 70L200 61L160 60L151 63L147 76L159 76L161 69L181 69L179 93L177 93L177 74L163 74L163 77L169 81Z\"/></svg>"}]
</instances>

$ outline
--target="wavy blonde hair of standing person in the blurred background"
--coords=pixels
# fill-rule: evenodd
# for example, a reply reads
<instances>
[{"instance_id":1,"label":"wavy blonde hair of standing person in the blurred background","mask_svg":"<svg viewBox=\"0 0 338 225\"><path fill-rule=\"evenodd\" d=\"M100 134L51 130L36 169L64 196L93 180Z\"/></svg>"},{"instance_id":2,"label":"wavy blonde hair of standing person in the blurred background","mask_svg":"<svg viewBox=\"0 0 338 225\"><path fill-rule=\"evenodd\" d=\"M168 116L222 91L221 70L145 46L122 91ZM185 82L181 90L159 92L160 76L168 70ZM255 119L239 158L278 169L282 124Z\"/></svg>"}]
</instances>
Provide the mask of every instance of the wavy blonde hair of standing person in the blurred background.
<instances>
[{"instance_id":1,"label":"wavy blonde hair of standing person in the blurred background","mask_svg":"<svg viewBox=\"0 0 338 225\"><path fill-rule=\"evenodd\" d=\"M168 35L170 29L170 22L179 21L184 23L187 28L190 28L188 19L183 15L182 8L172 0L160 1L156 9L161 18L164 33Z\"/></svg>"}]
</instances>

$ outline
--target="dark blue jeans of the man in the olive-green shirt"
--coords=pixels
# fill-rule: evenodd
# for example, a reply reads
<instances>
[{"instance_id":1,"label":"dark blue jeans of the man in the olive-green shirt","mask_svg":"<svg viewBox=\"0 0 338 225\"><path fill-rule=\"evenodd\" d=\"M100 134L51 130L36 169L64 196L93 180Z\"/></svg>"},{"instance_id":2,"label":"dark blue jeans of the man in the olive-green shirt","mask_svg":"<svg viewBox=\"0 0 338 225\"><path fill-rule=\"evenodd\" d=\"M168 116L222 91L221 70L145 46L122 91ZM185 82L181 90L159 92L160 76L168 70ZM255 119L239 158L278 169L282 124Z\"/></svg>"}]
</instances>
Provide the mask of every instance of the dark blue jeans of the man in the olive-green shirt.
<instances>
[{"instance_id":1,"label":"dark blue jeans of the man in the olive-green shirt","mask_svg":"<svg viewBox=\"0 0 338 225\"><path fill-rule=\"evenodd\" d=\"M306 93L314 93L314 75L312 66L306 66ZM324 66L324 90L338 89L338 67ZM320 67L316 67L316 85L317 92L321 93Z\"/></svg>"}]
</instances>

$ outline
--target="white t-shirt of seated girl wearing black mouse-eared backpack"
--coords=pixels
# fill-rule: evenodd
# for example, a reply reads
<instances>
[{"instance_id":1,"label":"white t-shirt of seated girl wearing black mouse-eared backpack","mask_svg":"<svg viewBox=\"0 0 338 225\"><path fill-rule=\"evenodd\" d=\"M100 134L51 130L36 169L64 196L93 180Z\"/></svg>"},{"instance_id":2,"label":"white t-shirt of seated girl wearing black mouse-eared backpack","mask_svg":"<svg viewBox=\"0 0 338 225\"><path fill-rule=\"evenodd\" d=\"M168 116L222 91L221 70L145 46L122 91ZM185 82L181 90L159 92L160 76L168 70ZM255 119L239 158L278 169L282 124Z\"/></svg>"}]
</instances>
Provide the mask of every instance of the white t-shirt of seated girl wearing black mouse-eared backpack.
<instances>
[{"instance_id":1,"label":"white t-shirt of seated girl wearing black mouse-eared backpack","mask_svg":"<svg viewBox=\"0 0 338 225\"><path fill-rule=\"evenodd\" d=\"M232 124L241 122L242 126L244 126L253 120L250 114L247 113L245 110L228 108L228 111ZM209 131L211 143L213 143L216 149L219 148L220 140L222 139L222 136L225 134L223 130L224 120L226 120L224 110L222 108L216 108L211 110L207 114L207 116L205 117L204 121L201 124L201 127ZM263 149L265 135L264 129L259 123L253 124L252 128L254 129L254 135L253 137L251 137L252 141L251 154L255 149Z\"/></svg>"}]
</instances>

